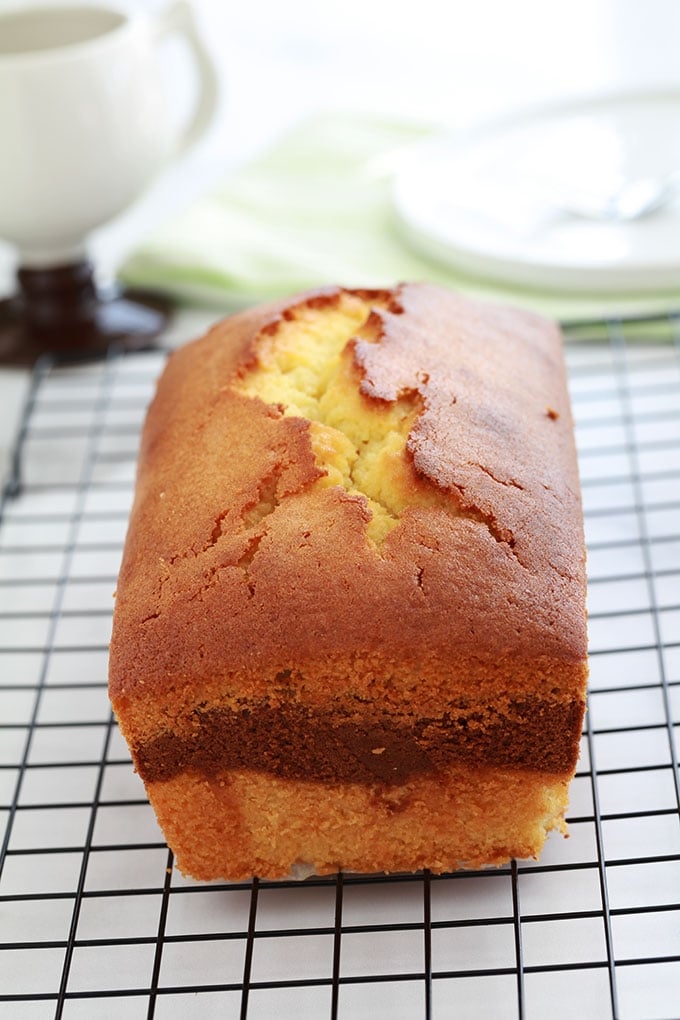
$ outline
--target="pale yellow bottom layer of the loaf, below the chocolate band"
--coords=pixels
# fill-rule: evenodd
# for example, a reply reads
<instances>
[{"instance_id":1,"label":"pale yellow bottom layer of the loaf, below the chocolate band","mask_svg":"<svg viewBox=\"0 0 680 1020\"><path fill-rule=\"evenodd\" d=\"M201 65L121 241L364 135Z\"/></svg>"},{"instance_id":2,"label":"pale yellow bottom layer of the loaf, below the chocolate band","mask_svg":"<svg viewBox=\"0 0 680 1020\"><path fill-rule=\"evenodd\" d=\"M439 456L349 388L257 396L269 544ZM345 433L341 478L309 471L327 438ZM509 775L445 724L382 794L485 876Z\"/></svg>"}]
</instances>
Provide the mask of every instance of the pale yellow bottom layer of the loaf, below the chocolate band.
<instances>
[{"instance_id":1,"label":"pale yellow bottom layer of the loaf, below the chocolate band","mask_svg":"<svg viewBox=\"0 0 680 1020\"><path fill-rule=\"evenodd\" d=\"M240 880L298 865L440 873L536 857L551 829L566 831L569 778L458 765L389 788L250 771L147 788L180 871Z\"/></svg>"}]
</instances>

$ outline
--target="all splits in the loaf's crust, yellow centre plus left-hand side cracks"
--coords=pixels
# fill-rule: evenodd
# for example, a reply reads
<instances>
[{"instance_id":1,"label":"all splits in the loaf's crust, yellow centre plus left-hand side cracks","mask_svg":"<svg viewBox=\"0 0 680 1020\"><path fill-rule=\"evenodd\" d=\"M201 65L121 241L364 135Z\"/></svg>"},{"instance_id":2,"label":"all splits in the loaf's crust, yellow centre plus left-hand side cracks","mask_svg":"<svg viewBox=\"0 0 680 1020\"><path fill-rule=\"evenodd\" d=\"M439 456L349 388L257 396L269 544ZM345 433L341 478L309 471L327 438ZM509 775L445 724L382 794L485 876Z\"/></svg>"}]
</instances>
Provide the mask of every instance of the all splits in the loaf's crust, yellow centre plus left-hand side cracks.
<instances>
[{"instance_id":1,"label":"all splits in the loaf's crust, yellow centre plus left-hand side cracks","mask_svg":"<svg viewBox=\"0 0 680 1020\"><path fill-rule=\"evenodd\" d=\"M365 503L370 514L367 539L377 555L409 506L434 506L485 526L524 567L511 529L472 502L464 486L452 482L444 490L416 470L409 440L425 409L417 385L426 384L427 378L414 379L412 389L405 388L393 399L373 396L362 388L355 345L359 341L379 344L383 314L400 314L402 310L389 292L339 292L331 300L303 301L260 329L248 361L226 382L226 389L261 400L274 417L297 417L305 422L319 470L313 484L320 489L339 486ZM456 403L456 395L452 395L452 413ZM214 410L210 408L208 415ZM468 463L500 486L523 490L514 479L495 477L484 464ZM289 495L279 493L280 474L279 464L260 482L257 502L228 507L215 517L202 546L194 545L165 561L159 605L171 568L180 560L208 553L227 533L246 536L244 551L231 563L243 570L249 595L254 595L251 564L266 534L267 518ZM422 589L423 568L418 564L416 568L416 583ZM212 566L206 571L204 584L193 599L216 582L220 569ZM157 616L155 612L146 620Z\"/></svg>"}]
</instances>

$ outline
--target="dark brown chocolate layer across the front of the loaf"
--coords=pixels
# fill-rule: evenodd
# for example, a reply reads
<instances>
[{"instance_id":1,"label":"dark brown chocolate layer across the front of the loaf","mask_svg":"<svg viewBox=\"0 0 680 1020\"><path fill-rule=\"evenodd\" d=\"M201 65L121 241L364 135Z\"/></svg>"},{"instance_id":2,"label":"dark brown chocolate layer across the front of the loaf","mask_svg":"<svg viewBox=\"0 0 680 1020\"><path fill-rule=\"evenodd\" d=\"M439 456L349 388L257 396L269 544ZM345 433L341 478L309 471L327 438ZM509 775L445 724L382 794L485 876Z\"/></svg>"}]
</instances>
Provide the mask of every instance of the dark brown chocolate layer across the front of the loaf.
<instances>
[{"instance_id":1,"label":"dark brown chocolate layer across the front of the loaf","mask_svg":"<svg viewBox=\"0 0 680 1020\"><path fill-rule=\"evenodd\" d=\"M286 779L399 784L449 763L570 772L578 756L583 706L536 700L507 712L452 709L438 719L387 716L357 723L298 705L253 704L238 712L197 710L189 736L164 732L135 749L145 780L169 779L188 769L207 776L252 769Z\"/></svg>"}]
</instances>

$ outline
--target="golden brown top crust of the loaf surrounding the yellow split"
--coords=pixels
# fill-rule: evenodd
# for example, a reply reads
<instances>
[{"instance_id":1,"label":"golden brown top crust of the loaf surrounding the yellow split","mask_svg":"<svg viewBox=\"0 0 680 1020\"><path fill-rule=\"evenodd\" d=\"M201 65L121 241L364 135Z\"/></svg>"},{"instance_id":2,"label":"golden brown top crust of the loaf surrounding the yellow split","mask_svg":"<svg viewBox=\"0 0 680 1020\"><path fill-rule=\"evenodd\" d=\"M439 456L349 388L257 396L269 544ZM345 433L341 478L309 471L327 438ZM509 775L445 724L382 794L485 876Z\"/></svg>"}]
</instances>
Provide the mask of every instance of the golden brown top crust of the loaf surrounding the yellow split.
<instances>
[{"instance_id":1,"label":"golden brown top crust of the loaf surrounding the yellow split","mask_svg":"<svg viewBox=\"0 0 680 1020\"><path fill-rule=\"evenodd\" d=\"M170 358L149 413L118 585L114 699L140 675L164 688L358 649L407 662L453 656L463 673L583 662L578 478L557 329L431 287L396 298L403 312L375 313L380 342L356 345L363 385L380 399L419 389L416 469L463 515L407 511L376 556L361 500L310 491L308 424L229 388L281 305L226 319ZM243 514L267 487L277 506L253 540Z\"/></svg>"}]
</instances>

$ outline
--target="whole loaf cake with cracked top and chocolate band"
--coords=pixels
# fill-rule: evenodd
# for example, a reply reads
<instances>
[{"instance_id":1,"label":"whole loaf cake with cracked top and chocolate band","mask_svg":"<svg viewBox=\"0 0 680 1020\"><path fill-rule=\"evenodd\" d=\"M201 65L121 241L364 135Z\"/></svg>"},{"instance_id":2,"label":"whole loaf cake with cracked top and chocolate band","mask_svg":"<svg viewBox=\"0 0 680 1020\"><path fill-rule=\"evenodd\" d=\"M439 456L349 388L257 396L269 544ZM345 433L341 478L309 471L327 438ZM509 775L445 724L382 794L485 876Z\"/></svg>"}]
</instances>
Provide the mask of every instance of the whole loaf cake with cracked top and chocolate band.
<instances>
[{"instance_id":1,"label":"whole loaf cake with cracked top and chocolate band","mask_svg":"<svg viewBox=\"0 0 680 1020\"><path fill-rule=\"evenodd\" d=\"M428 285L328 289L176 351L110 694L179 869L536 856L578 755L584 590L553 324Z\"/></svg>"}]
</instances>

